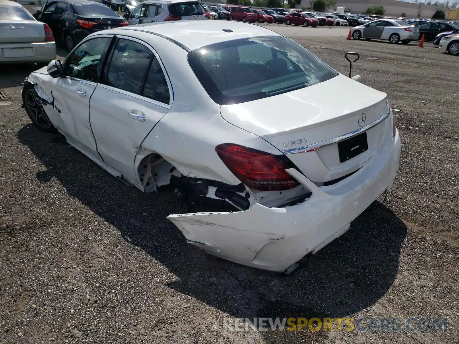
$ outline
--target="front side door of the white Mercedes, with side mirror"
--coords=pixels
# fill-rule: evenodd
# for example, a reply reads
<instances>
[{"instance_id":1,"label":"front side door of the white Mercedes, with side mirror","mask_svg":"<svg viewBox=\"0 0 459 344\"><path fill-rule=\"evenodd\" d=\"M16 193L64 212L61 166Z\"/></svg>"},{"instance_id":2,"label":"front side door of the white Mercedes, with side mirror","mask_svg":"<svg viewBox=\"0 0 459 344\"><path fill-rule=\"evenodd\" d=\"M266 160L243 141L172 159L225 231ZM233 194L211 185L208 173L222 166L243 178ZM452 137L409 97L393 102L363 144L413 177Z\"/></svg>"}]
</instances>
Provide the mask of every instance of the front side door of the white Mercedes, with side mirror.
<instances>
[{"instance_id":1,"label":"front side door of the white Mercedes, with side mirror","mask_svg":"<svg viewBox=\"0 0 459 344\"><path fill-rule=\"evenodd\" d=\"M90 127L89 102L97 85L101 56L112 37L90 39L67 57L63 77L51 79L54 107L59 112L57 126L71 144L97 155Z\"/></svg>"}]
</instances>

